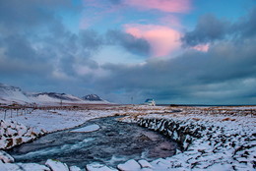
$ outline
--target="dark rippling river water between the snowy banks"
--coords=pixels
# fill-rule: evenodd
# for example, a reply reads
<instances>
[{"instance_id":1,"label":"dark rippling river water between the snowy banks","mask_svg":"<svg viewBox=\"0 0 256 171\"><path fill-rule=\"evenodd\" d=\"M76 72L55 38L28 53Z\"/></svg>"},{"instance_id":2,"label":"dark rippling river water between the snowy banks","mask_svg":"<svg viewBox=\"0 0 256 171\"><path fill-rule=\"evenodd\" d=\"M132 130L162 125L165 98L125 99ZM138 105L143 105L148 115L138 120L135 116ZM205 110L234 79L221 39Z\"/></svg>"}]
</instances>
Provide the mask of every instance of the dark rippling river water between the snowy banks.
<instances>
[{"instance_id":1,"label":"dark rippling river water between the snowy banks","mask_svg":"<svg viewBox=\"0 0 256 171\"><path fill-rule=\"evenodd\" d=\"M92 162L116 166L129 159L151 161L174 154L175 142L136 124L118 122L115 118L95 119L79 127L97 124L100 129L96 132L61 131L14 147L8 152L16 162L44 164L51 158L81 168Z\"/></svg>"}]
</instances>

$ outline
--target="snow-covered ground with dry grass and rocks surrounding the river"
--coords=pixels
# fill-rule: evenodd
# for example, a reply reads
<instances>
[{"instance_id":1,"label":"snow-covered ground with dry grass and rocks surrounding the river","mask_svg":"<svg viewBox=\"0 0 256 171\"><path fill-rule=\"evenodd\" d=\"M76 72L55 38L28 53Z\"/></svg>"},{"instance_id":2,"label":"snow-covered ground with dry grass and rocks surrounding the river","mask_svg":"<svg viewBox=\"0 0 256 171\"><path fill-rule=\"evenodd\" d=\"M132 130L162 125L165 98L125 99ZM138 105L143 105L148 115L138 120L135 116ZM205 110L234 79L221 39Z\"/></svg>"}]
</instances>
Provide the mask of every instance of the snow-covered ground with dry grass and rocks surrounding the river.
<instances>
[{"instance_id":1,"label":"snow-covered ground with dry grass and rocks surrounding the river","mask_svg":"<svg viewBox=\"0 0 256 171\"><path fill-rule=\"evenodd\" d=\"M177 151L177 154L172 157L160 158L152 162L129 160L116 168L93 163L87 166L87 170L255 170L255 106L103 106L90 110L33 110L31 114L23 113L18 116L13 114L12 118L10 114L7 115L6 120L1 122L0 144L3 148L8 143L7 139L17 140L18 138L21 138L20 141L28 142L30 136L33 139L39 134L73 128L90 119L114 115L128 115L123 121L144 122L144 126L147 125L146 127L150 129L168 131L169 137L177 141L181 141L181 135L189 133L190 135L186 135L185 138L187 140L189 138L189 141L184 141L182 138L183 142L189 144L184 144L185 151ZM0 111L0 117L1 119L4 117L3 110ZM171 128L173 123L175 129ZM197 133L199 136L193 136L192 133ZM12 162L10 157L3 151L0 152L2 170L31 170L32 168L32 170L51 169L53 171L80 170L55 160L45 161L45 165L5 163Z\"/></svg>"}]
</instances>

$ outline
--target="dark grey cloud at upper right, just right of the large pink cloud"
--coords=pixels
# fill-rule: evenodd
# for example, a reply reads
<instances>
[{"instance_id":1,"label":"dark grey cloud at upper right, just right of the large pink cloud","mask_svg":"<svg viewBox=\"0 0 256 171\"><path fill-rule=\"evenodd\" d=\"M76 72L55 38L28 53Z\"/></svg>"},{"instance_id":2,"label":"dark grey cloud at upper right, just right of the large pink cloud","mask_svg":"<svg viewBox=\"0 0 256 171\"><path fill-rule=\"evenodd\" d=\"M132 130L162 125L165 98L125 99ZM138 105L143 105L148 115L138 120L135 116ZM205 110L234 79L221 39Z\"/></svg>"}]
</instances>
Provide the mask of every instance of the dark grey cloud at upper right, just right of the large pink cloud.
<instances>
[{"instance_id":1,"label":"dark grey cloud at upper right, just right of the large pink cloud","mask_svg":"<svg viewBox=\"0 0 256 171\"><path fill-rule=\"evenodd\" d=\"M195 46L198 44L211 43L216 40L235 40L241 36L255 36L255 19L256 8L252 9L248 15L233 24L219 20L212 15L206 15L200 18L194 30L185 33L181 41L185 46Z\"/></svg>"}]
</instances>

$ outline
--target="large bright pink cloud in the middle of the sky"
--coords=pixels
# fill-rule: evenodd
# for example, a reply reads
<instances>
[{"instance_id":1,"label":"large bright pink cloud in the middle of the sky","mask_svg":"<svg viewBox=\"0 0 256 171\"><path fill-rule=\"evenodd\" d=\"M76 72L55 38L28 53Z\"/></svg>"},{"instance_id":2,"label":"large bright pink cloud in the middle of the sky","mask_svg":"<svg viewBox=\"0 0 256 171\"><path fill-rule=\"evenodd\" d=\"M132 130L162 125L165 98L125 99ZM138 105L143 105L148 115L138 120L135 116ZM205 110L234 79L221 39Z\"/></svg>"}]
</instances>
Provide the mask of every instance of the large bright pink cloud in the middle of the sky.
<instances>
[{"instance_id":1,"label":"large bright pink cloud in the middle of the sky","mask_svg":"<svg viewBox=\"0 0 256 171\"><path fill-rule=\"evenodd\" d=\"M125 25L125 31L149 41L154 57L166 56L180 47L181 33L172 28L156 25Z\"/></svg>"}]
</instances>

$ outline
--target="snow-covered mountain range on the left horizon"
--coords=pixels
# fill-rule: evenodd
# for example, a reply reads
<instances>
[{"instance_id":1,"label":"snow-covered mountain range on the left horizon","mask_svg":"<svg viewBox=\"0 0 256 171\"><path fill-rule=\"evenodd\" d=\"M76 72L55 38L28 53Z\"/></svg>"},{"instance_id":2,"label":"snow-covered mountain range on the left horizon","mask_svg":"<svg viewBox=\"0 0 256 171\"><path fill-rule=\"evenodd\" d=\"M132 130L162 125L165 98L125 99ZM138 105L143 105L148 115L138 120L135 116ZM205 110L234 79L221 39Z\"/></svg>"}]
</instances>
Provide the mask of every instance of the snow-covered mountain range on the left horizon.
<instances>
[{"instance_id":1,"label":"snow-covered mountain range on the left horizon","mask_svg":"<svg viewBox=\"0 0 256 171\"><path fill-rule=\"evenodd\" d=\"M96 94L87 95L85 98L79 98L75 95L57 92L24 92L20 87L0 84L0 103L12 104L105 104L108 101L102 100Z\"/></svg>"}]
</instances>

